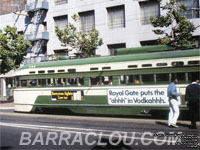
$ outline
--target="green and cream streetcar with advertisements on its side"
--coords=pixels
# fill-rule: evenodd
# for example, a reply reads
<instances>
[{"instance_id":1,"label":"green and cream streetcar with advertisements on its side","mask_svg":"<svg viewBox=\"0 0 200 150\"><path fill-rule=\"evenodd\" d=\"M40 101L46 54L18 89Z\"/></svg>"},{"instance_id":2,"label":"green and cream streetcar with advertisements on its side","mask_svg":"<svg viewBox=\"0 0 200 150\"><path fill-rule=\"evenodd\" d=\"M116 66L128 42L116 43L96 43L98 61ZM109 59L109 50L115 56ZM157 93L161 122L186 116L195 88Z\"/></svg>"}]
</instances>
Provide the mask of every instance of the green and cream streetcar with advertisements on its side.
<instances>
[{"instance_id":1,"label":"green and cream streetcar with advertisements on its side","mask_svg":"<svg viewBox=\"0 0 200 150\"><path fill-rule=\"evenodd\" d=\"M172 76L178 77L177 88L184 96L191 78L199 75L200 49L139 49L143 53L121 49L115 56L23 66L15 71L15 111L65 108L72 113L134 115L168 109ZM185 109L184 99L179 104Z\"/></svg>"}]
</instances>

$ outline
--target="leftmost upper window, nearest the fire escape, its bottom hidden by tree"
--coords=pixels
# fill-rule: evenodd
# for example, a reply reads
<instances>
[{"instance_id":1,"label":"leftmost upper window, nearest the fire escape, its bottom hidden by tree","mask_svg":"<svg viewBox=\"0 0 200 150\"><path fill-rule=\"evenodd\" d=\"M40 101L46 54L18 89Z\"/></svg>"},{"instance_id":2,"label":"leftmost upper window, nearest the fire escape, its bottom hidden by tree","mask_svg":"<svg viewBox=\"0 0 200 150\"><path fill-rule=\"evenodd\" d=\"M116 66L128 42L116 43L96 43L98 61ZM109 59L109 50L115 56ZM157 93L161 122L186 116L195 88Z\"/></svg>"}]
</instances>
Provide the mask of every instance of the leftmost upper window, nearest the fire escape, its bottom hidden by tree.
<instances>
[{"instance_id":1,"label":"leftmost upper window, nearest the fire escape, its bottom hidden by tree","mask_svg":"<svg viewBox=\"0 0 200 150\"><path fill-rule=\"evenodd\" d=\"M55 21L55 26L57 26L61 30L64 30L67 27L68 24L67 15L54 17L54 21Z\"/></svg>"}]
</instances>

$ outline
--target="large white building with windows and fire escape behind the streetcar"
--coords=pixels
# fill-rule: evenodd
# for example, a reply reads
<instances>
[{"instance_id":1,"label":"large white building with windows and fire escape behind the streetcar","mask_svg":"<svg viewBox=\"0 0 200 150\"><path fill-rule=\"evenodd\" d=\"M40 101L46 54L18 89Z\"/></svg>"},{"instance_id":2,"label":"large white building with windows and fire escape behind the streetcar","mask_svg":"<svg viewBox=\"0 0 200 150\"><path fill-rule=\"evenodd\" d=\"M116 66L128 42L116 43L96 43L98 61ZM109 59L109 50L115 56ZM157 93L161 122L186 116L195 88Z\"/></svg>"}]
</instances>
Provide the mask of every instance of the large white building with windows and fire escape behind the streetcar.
<instances>
[{"instance_id":1,"label":"large white building with windows and fire escape behind the streetcar","mask_svg":"<svg viewBox=\"0 0 200 150\"><path fill-rule=\"evenodd\" d=\"M165 3L167 0L163 0ZM179 0L188 7L186 16L200 25L199 0ZM150 16L165 14L154 0L1 0L0 28L16 26L19 33L32 42L25 63L44 61L51 55L73 55L66 52L56 33L55 26L63 29L72 15L80 16L79 28L89 31L95 27L104 44L97 55L112 55L117 48L155 44L156 36ZM193 33L200 45L200 27ZM2 82L3 83L3 82Z\"/></svg>"}]
</instances>

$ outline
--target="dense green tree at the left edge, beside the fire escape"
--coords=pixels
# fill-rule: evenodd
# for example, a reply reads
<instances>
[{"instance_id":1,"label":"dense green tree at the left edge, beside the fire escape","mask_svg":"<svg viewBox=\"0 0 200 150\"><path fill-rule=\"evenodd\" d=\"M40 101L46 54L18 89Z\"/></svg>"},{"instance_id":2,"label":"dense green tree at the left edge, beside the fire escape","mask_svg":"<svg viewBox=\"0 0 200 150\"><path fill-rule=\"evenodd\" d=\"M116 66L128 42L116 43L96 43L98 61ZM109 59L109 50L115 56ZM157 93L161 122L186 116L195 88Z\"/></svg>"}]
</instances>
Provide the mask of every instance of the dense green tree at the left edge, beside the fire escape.
<instances>
[{"instance_id":1,"label":"dense green tree at the left edge, beside the fire escape","mask_svg":"<svg viewBox=\"0 0 200 150\"><path fill-rule=\"evenodd\" d=\"M6 26L0 29L0 59L1 74L5 74L20 66L31 44L17 32L16 27Z\"/></svg>"}]
</instances>

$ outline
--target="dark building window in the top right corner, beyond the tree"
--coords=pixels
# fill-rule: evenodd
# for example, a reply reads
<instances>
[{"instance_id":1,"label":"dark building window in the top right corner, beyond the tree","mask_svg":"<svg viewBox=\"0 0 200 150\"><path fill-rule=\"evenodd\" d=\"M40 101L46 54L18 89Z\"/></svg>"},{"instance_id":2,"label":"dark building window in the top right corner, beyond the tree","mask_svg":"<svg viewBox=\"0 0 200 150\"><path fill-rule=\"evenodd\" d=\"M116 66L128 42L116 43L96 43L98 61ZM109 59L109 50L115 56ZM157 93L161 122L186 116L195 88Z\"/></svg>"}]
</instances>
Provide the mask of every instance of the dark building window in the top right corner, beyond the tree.
<instances>
[{"instance_id":1,"label":"dark building window in the top right corner, beyond the tree","mask_svg":"<svg viewBox=\"0 0 200 150\"><path fill-rule=\"evenodd\" d=\"M188 19L199 18L200 9L198 0L178 0L178 3L184 4L187 11L183 14Z\"/></svg>"}]
</instances>

